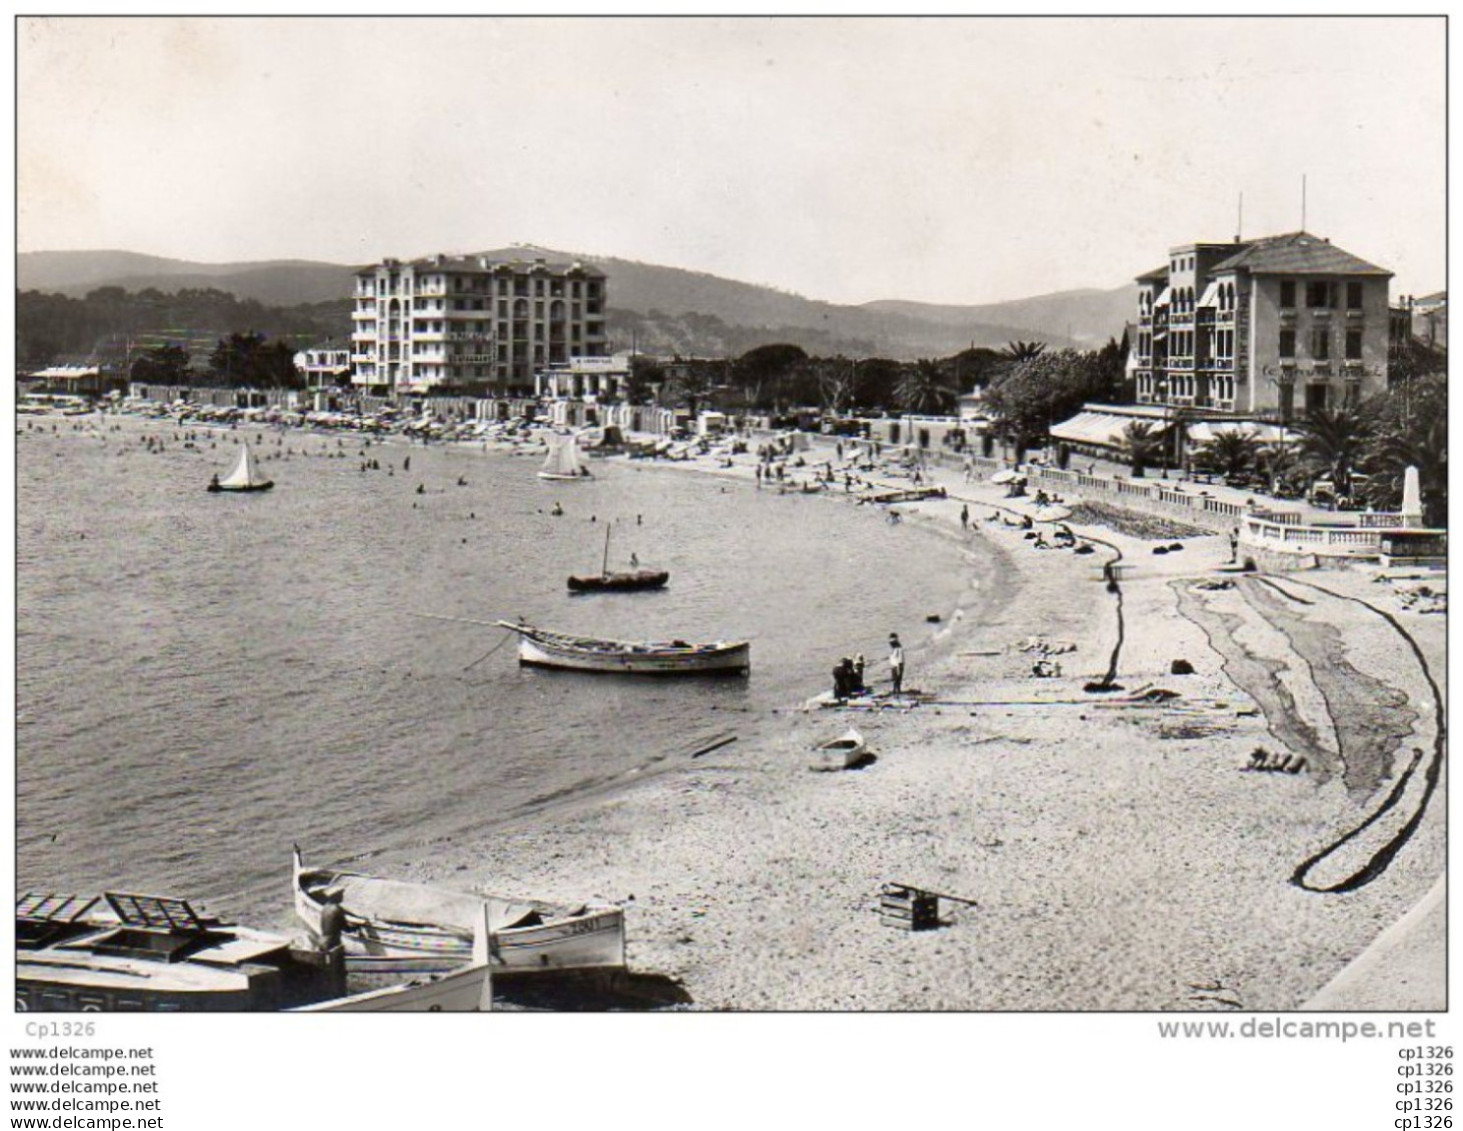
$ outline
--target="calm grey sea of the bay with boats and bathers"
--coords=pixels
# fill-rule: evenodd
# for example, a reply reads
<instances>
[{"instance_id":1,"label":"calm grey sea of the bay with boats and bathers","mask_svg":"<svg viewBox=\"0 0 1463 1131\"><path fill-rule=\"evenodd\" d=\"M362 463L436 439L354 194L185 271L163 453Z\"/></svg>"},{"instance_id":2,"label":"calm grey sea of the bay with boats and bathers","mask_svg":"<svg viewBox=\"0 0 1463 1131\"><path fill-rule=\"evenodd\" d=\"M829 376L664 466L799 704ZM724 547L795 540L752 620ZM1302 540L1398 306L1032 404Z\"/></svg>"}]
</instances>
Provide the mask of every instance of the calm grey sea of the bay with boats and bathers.
<instances>
[{"instance_id":1,"label":"calm grey sea of the bay with boats and bathers","mask_svg":"<svg viewBox=\"0 0 1463 1131\"><path fill-rule=\"evenodd\" d=\"M22 890L177 894L285 925L291 841L361 857L683 768L677 754L775 726L838 655L882 658L890 629L920 639L926 613L971 597L961 547L825 497L623 462L554 484L537 458L478 448L363 455L358 437L98 420L16 437ZM243 437L275 490L208 495ZM633 552L667 590L568 594L607 522L612 562ZM426 613L749 638L752 675L521 669L503 631Z\"/></svg>"}]
</instances>

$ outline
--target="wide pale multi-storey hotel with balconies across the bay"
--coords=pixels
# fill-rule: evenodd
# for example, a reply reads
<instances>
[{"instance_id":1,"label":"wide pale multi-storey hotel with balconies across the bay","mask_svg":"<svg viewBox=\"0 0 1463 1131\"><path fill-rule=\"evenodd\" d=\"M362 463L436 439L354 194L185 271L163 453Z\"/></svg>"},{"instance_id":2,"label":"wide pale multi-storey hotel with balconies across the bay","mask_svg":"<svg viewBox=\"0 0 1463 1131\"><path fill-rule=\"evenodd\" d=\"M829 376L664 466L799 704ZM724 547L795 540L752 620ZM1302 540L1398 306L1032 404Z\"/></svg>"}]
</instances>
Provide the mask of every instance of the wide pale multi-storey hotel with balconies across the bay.
<instances>
[{"instance_id":1,"label":"wide pale multi-storey hotel with balconies across the bay","mask_svg":"<svg viewBox=\"0 0 1463 1131\"><path fill-rule=\"evenodd\" d=\"M356 272L351 382L380 392L534 391L534 373L604 357L604 272L515 250L386 259Z\"/></svg>"}]
</instances>

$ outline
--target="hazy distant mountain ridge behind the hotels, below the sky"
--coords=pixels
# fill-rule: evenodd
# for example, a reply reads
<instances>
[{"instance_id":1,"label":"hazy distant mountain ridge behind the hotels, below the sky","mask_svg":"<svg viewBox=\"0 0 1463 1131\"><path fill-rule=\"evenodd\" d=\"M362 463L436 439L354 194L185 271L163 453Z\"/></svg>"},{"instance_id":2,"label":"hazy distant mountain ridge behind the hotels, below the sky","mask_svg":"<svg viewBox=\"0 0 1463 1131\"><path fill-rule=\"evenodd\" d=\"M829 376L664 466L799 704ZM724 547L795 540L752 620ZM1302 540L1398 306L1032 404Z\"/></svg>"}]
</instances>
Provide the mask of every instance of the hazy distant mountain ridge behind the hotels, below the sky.
<instances>
[{"instance_id":1,"label":"hazy distant mountain ridge behind the hotels, below the sky","mask_svg":"<svg viewBox=\"0 0 1463 1131\"><path fill-rule=\"evenodd\" d=\"M1017 338L1094 348L1122 337L1137 303L1129 284L974 306L894 298L846 306L613 256L528 244L505 250L525 259L579 259L604 271L613 344L633 344L642 353L734 356L768 342L794 342L821 356L914 358L948 356L971 344L1001 347ZM303 259L196 263L120 250L23 252L16 256L16 285L70 297L98 287L215 288L269 306L339 301L344 309L356 269ZM348 319L342 319L341 335L348 334Z\"/></svg>"}]
</instances>

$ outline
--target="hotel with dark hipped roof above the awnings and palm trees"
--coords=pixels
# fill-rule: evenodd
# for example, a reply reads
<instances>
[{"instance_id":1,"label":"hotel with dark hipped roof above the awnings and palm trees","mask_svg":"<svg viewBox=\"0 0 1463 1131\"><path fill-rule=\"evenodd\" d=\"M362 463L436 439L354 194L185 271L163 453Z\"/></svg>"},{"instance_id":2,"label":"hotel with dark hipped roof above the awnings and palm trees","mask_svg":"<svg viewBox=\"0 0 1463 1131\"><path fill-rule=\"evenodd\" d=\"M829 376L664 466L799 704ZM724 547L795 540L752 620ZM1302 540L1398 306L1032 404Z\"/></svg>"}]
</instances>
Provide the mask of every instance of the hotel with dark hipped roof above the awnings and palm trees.
<instances>
[{"instance_id":1,"label":"hotel with dark hipped roof above the awnings and palm trees","mask_svg":"<svg viewBox=\"0 0 1463 1131\"><path fill-rule=\"evenodd\" d=\"M1387 386L1391 272L1305 231L1191 243L1138 277L1140 404L1271 420Z\"/></svg>"}]
</instances>

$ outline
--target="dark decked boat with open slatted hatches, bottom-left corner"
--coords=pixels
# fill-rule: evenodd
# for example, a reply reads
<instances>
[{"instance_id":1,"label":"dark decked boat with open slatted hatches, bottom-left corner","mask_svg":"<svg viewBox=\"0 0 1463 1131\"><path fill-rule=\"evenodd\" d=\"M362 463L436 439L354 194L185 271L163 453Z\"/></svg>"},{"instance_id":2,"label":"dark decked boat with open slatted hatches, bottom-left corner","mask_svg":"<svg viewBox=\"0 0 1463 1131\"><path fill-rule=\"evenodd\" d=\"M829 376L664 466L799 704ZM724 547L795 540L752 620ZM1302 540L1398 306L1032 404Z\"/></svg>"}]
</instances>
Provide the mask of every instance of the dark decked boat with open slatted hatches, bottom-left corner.
<instances>
[{"instance_id":1,"label":"dark decked boat with open slatted hatches, bottom-left corner","mask_svg":"<svg viewBox=\"0 0 1463 1131\"><path fill-rule=\"evenodd\" d=\"M105 901L105 903L102 903ZM345 972L187 900L108 891L16 901L16 1011L284 1010L338 998Z\"/></svg>"}]
</instances>

